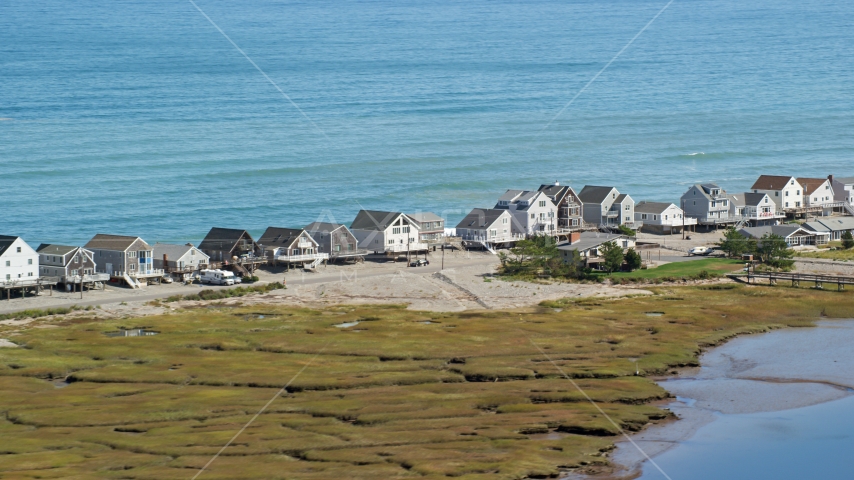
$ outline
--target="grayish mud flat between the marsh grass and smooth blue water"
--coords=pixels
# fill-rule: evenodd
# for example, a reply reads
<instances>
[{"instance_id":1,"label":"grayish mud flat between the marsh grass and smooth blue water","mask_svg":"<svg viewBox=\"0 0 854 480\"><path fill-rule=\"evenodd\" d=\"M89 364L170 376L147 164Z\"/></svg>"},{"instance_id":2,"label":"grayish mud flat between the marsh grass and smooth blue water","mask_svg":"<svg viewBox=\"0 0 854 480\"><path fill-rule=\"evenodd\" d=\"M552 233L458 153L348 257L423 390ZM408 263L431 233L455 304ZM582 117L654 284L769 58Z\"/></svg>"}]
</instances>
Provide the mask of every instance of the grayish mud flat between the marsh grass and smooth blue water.
<instances>
[{"instance_id":1,"label":"grayish mud flat between the marsh grass and smooth blue water","mask_svg":"<svg viewBox=\"0 0 854 480\"><path fill-rule=\"evenodd\" d=\"M700 356L700 367L655 377L673 398L657 402L673 417L616 442L611 465L571 473L565 480L630 480L654 469L653 460L678 448L721 415L777 412L819 405L854 394L854 320L822 320L814 328L789 328L730 339Z\"/></svg>"}]
</instances>

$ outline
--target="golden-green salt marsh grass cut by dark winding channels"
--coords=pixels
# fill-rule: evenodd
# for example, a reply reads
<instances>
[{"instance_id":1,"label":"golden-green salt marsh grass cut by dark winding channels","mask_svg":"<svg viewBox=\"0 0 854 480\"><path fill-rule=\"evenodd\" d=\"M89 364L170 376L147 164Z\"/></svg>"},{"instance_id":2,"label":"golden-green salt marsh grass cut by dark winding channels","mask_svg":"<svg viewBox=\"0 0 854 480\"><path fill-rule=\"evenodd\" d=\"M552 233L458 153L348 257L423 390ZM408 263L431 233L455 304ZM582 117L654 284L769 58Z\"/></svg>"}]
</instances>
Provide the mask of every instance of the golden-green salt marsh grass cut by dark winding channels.
<instances>
[{"instance_id":1,"label":"golden-green salt marsh grass cut by dark winding channels","mask_svg":"<svg viewBox=\"0 0 854 480\"><path fill-rule=\"evenodd\" d=\"M673 266L702 262L737 266ZM651 290L516 311L209 304L0 326L25 347L0 349L0 476L191 478L311 362L200 479L546 478L606 463L619 437L532 342L638 430L668 415L646 375L737 334L854 309L848 292ZM159 333L104 335L122 327Z\"/></svg>"}]
</instances>

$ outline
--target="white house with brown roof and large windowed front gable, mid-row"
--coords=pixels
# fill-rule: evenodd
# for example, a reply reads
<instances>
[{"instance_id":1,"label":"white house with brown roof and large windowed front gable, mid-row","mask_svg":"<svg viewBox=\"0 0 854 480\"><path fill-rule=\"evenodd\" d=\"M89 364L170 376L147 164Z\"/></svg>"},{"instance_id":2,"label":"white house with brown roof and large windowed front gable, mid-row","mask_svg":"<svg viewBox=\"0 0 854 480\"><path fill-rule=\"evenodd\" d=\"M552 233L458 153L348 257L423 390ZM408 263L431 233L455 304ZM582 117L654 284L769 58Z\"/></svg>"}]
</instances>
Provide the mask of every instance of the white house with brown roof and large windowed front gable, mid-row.
<instances>
[{"instance_id":1,"label":"white house with brown roof and large windowed front gable, mid-row","mask_svg":"<svg viewBox=\"0 0 854 480\"><path fill-rule=\"evenodd\" d=\"M350 231L359 248L384 254L427 251L421 241L418 224L402 212L359 210Z\"/></svg>"}]
</instances>

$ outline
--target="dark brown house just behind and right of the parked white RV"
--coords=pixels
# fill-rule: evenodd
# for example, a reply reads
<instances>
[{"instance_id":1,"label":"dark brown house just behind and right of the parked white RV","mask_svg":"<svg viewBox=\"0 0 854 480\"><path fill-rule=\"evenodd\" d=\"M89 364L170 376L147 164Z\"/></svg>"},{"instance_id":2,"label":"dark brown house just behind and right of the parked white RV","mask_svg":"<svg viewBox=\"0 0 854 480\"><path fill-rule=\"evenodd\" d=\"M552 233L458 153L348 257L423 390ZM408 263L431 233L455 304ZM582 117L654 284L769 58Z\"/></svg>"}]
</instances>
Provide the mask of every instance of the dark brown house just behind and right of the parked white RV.
<instances>
[{"instance_id":1,"label":"dark brown house just behind and right of the parked white RV","mask_svg":"<svg viewBox=\"0 0 854 480\"><path fill-rule=\"evenodd\" d=\"M264 248L252 235L236 228L212 228L199 244L199 250L210 257L212 267L230 268L240 275L250 274L267 261Z\"/></svg>"}]
</instances>

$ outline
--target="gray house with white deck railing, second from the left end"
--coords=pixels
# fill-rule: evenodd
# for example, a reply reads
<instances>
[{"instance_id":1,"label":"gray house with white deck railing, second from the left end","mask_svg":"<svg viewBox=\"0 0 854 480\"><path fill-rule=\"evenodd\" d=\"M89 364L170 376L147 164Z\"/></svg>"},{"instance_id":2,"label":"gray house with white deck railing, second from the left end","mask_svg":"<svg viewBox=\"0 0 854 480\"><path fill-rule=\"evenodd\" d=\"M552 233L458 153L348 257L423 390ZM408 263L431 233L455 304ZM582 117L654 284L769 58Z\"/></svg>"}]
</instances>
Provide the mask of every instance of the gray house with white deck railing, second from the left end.
<instances>
[{"instance_id":1,"label":"gray house with white deck railing, second from the left end","mask_svg":"<svg viewBox=\"0 0 854 480\"><path fill-rule=\"evenodd\" d=\"M96 273L95 252L83 247L43 243L39 254L39 274L52 277L64 285L108 282L106 273Z\"/></svg>"}]
</instances>

